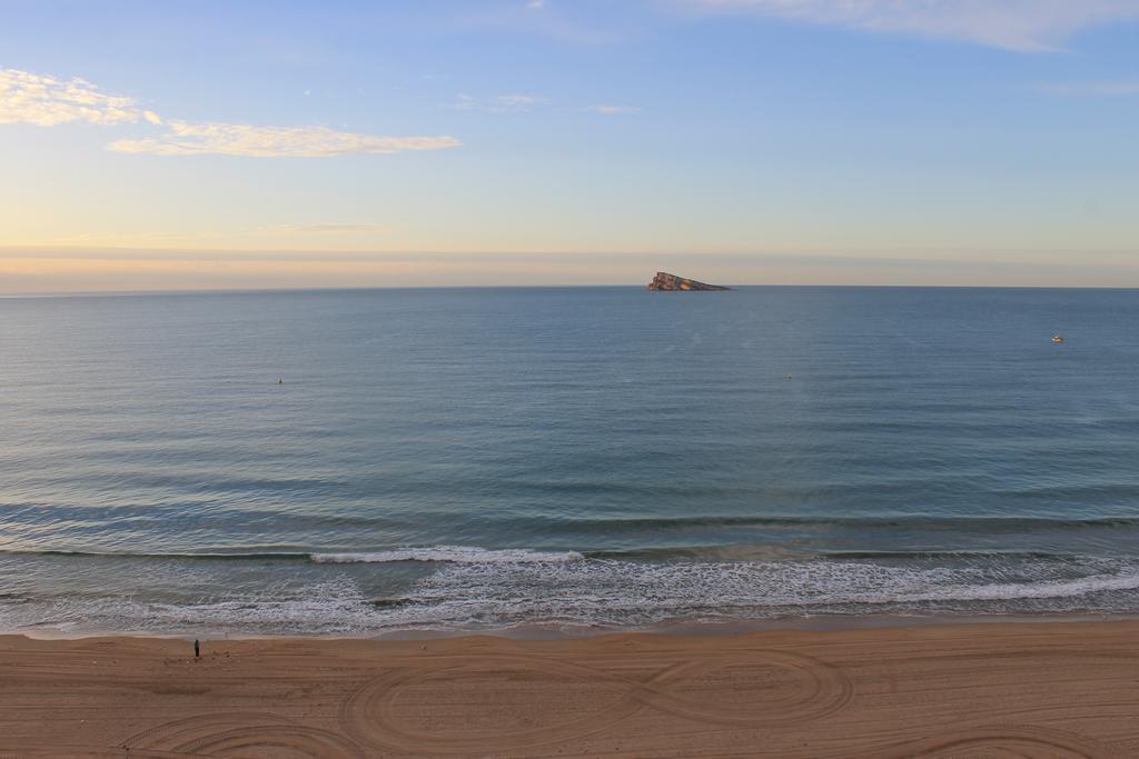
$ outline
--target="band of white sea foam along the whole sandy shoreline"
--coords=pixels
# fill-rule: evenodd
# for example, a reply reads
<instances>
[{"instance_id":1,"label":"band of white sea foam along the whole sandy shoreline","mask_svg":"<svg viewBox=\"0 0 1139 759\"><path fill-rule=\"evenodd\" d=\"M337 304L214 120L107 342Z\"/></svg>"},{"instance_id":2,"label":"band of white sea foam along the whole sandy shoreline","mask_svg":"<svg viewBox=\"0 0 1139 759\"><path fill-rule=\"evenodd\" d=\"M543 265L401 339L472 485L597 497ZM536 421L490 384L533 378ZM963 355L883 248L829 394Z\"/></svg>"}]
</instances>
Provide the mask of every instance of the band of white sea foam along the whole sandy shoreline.
<instances>
[{"instance_id":1,"label":"band of white sea foam along the whole sandy shoreline","mask_svg":"<svg viewBox=\"0 0 1139 759\"><path fill-rule=\"evenodd\" d=\"M568 553L457 552L446 546L408 552L417 561L437 561L423 558L432 552L450 558L400 597L383 602L366 595L359 578L328 567L322 571L334 575L323 581L290 580L259 589L245 585L223 596L183 603L109 596L0 599L0 627L369 635L518 625L630 628L812 614L1139 609L1139 563L1132 560L1017 559L945 567L828 560L664 563ZM385 552L382 560L409 560L394 558L396 553ZM523 560L508 558L519 554ZM195 564L182 571L205 568Z\"/></svg>"}]
</instances>

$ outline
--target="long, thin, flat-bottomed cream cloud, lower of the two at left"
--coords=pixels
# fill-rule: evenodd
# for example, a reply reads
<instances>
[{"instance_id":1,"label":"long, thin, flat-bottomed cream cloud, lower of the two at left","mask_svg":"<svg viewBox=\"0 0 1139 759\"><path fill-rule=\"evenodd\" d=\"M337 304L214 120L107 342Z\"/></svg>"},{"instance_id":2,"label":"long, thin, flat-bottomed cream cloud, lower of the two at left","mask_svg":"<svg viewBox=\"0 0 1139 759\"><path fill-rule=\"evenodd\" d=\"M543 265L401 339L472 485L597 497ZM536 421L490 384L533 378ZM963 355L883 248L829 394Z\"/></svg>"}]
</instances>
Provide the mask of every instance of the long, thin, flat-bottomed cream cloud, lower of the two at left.
<instances>
[{"instance_id":1,"label":"long, thin, flat-bottomed cream cloud, lower of the two at left","mask_svg":"<svg viewBox=\"0 0 1139 759\"><path fill-rule=\"evenodd\" d=\"M252 124L190 124L170 122L153 138L112 142L116 152L155 156L249 156L256 158L326 157L349 154L392 154L440 150L461 145L453 137L379 137L338 132L327 126L254 126Z\"/></svg>"}]
</instances>

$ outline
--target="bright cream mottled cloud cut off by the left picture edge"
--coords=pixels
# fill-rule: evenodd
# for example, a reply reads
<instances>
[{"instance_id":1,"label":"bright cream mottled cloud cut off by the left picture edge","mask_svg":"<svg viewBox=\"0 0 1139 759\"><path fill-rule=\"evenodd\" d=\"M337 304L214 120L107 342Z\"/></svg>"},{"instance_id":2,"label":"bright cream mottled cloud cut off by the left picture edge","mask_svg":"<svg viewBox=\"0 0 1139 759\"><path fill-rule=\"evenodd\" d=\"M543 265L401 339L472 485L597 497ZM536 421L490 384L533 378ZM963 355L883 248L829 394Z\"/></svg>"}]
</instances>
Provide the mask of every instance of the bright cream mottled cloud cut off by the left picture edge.
<instances>
[{"instance_id":1,"label":"bright cream mottled cloud cut off by the left picture edge","mask_svg":"<svg viewBox=\"0 0 1139 759\"><path fill-rule=\"evenodd\" d=\"M100 92L81 79L68 81L15 68L0 68L0 124L26 123L55 126L67 122L123 124L138 121L159 124L157 114L142 110L134 100Z\"/></svg>"}]
</instances>

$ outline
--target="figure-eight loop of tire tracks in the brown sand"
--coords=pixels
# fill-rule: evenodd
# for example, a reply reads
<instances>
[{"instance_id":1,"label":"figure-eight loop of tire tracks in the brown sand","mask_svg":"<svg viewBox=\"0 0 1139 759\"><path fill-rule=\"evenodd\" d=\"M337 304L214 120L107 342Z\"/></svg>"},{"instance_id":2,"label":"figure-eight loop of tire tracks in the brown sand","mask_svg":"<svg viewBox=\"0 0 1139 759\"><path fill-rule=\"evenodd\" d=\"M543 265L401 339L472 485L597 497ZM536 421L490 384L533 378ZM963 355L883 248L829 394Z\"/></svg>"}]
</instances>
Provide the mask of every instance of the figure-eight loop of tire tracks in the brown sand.
<instances>
[{"instance_id":1,"label":"figure-eight loop of tire tracks in the brown sand","mask_svg":"<svg viewBox=\"0 0 1139 759\"><path fill-rule=\"evenodd\" d=\"M789 652L735 651L698 660L661 660L659 665L648 679L641 680L593 666L539 657L451 658L445 666L423 663L369 680L342 708L341 725L358 742L374 749L469 753L485 751L491 745L508 751L589 737L641 709L656 709L708 725L764 727L819 719L838 711L853 698L850 679L836 667ZM770 670L779 680L762 693L760 702L726 703L720 698L726 679L740 671L754 673L757 667ZM480 700L492 701L493 682L487 680L494 678L515 684L532 678L544 683L548 692L533 692L534 701L515 704L509 715L510 726L470 724L469 719L451 727L440 726L449 718L445 708L437 710L441 713L436 717L425 719L425 713L439 706L441 699L458 699L468 706ZM582 686L591 692L581 693ZM574 687L579 691L579 702L592 704L589 709L580 709L562 721L531 726L541 721L543 712L556 711L542 708L543 696L563 699L564 703L564 694ZM465 698L465 693L470 695ZM401 698L416 707L401 708ZM424 725L409 724L409 712Z\"/></svg>"}]
</instances>

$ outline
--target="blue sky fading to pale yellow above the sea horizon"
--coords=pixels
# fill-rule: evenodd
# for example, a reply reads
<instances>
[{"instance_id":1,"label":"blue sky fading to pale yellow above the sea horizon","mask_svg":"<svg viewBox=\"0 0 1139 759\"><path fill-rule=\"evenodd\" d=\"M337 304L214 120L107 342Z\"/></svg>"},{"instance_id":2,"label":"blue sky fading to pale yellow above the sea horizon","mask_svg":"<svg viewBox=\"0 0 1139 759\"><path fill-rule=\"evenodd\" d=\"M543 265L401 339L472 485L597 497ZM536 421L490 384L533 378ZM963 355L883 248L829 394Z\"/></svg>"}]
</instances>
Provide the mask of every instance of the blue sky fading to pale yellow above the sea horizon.
<instances>
[{"instance_id":1,"label":"blue sky fading to pale yellow above the sea horizon","mask_svg":"<svg viewBox=\"0 0 1139 759\"><path fill-rule=\"evenodd\" d=\"M1139 0L0 0L0 292L1139 287Z\"/></svg>"}]
</instances>

